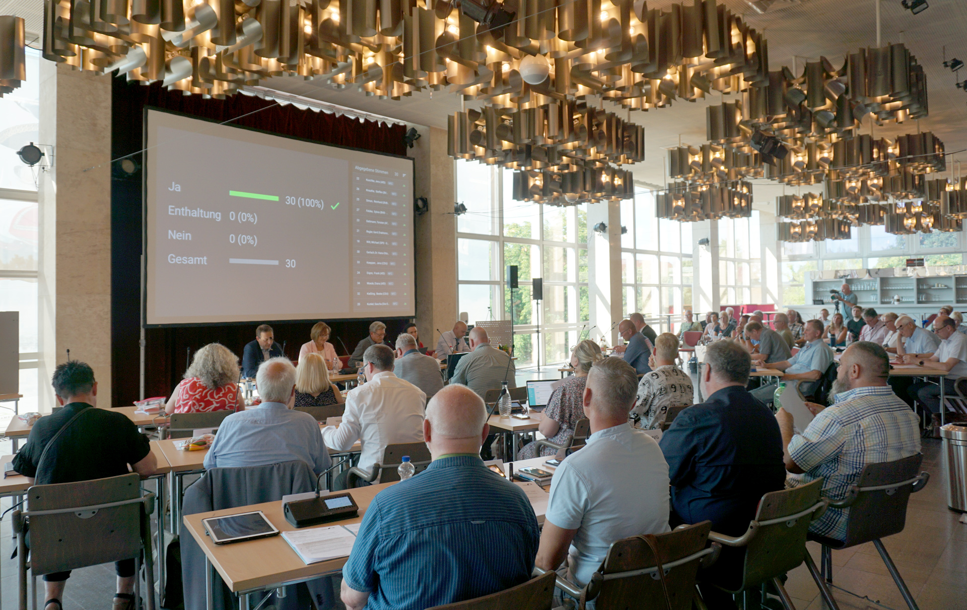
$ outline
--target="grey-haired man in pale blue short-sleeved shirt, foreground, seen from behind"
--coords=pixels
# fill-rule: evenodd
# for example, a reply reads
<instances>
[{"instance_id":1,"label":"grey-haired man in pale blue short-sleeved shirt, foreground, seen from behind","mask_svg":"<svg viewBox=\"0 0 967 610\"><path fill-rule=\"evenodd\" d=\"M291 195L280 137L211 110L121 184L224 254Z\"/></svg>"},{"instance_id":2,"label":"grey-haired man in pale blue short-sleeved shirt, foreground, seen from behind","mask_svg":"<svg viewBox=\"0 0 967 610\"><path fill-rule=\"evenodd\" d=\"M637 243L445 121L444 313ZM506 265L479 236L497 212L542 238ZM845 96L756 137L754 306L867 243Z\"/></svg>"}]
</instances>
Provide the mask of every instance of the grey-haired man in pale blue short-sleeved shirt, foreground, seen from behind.
<instances>
[{"instance_id":1,"label":"grey-haired man in pale blue short-sleeved shirt, foreground, seen from behind","mask_svg":"<svg viewBox=\"0 0 967 610\"><path fill-rule=\"evenodd\" d=\"M591 367L584 414L592 434L551 479L535 563L557 569L568 558L566 578L578 587L615 540L668 531L668 465L659 444L628 421L637 387L634 369L617 358Z\"/></svg>"}]
</instances>

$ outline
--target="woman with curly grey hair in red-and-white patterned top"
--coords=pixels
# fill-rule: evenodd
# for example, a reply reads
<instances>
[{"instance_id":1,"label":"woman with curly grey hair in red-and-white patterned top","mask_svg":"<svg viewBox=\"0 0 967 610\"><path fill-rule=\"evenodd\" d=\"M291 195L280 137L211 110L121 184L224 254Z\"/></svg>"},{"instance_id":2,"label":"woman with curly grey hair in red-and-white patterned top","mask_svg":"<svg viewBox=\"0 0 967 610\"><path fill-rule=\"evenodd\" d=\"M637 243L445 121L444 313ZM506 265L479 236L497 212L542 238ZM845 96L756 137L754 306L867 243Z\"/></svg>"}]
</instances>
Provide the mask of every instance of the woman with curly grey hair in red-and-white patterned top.
<instances>
[{"instance_id":1,"label":"woman with curly grey hair in red-and-white patterned top","mask_svg":"<svg viewBox=\"0 0 967 610\"><path fill-rule=\"evenodd\" d=\"M238 356L220 343L209 343L194 353L185 379L171 392L164 413L243 411L239 374Z\"/></svg>"}]
</instances>

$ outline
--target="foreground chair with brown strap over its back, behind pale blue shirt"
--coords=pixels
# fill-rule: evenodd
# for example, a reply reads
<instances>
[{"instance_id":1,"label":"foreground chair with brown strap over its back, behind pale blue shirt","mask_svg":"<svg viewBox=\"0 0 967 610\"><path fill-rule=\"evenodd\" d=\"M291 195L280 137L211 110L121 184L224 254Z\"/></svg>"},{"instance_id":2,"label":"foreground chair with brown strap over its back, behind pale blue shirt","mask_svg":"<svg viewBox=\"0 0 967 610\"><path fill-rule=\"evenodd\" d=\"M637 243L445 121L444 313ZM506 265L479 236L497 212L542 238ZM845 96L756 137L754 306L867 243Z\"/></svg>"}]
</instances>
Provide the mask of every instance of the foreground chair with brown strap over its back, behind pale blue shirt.
<instances>
[{"instance_id":1,"label":"foreground chair with brown strap over its back, behind pale blue shirt","mask_svg":"<svg viewBox=\"0 0 967 610\"><path fill-rule=\"evenodd\" d=\"M637 610L690 610L699 566L718 559L721 546L707 545L711 521L654 536L627 537L613 542L591 582L579 589L560 576L556 586L576 598L579 610L596 607ZM544 572L540 567L535 573Z\"/></svg>"}]
</instances>

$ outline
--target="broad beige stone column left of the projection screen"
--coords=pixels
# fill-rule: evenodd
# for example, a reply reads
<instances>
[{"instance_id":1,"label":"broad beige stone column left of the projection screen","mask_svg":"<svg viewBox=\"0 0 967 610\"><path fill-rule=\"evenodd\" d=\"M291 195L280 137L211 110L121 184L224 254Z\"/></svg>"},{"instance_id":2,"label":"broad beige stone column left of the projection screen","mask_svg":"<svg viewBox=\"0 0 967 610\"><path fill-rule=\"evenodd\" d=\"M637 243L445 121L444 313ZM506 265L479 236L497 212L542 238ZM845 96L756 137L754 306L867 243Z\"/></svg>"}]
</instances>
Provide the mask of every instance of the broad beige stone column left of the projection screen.
<instances>
[{"instance_id":1,"label":"broad beige stone column left of the projection screen","mask_svg":"<svg viewBox=\"0 0 967 610\"><path fill-rule=\"evenodd\" d=\"M111 405L111 81L41 60L40 143L53 168L40 178L40 405L55 402L58 363L84 361ZM136 365L136 363L134 364Z\"/></svg>"}]
</instances>

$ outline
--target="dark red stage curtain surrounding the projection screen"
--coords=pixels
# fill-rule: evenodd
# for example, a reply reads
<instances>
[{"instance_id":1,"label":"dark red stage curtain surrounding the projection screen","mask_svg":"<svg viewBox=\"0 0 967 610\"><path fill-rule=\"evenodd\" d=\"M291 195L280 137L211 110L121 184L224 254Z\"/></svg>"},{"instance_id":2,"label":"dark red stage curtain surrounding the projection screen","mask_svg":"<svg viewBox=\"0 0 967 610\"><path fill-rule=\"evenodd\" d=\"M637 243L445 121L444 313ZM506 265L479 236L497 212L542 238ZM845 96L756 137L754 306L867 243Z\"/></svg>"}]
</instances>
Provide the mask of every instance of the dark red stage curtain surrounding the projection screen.
<instances>
[{"instance_id":1,"label":"dark red stage curtain surrounding the projection screen","mask_svg":"<svg viewBox=\"0 0 967 610\"><path fill-rule=\"evenodd\" d=\"M229 125L271 131L279 135L337 144L376 153L405 155L402 125L387 126L372 121L360 122L345 116L300 110L293 105L243 95L226 100L205 100L167 91L159 83L144 86L114 78L112 96L112 158L132 155L141 163L144 106L190 114L201 119ZM235 119L235 120L232 120ZM115 168L116 169L116 168ZM141 176L122 177L114 171L111 181L111 342L114 406L130 405L140 385L139 345L141 307ZM177 289L177 287L172 287ZM255 287L252 287L255 290ZM204 295L192 295L204 298ZM388 334L401 332L404 321L385 320ZM299 355L299 346L309 340L314 322L275 323L278 343L285 342L290 358ZM366 336L369 321L328 321L333 329L330 341L337 353L344 354ZM256 324L148 329L145 333L145 395L169 395L185 372L188 356L206 343L218 341L239 356L254 338ZM399 327L399 328L396 328Z\"/></svg>"}]
</instances>

